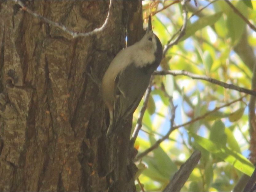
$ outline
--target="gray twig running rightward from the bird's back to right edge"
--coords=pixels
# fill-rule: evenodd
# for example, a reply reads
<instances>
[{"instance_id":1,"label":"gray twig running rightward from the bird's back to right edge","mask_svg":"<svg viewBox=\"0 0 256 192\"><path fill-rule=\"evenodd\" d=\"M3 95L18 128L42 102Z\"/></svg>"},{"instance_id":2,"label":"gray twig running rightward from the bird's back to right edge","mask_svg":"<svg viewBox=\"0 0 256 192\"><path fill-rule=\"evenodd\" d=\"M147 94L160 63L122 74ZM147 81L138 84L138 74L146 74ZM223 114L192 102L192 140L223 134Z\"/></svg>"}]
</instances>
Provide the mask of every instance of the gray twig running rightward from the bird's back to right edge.
<instances>
[{"instance_id":1,"label":"gray twig running rightward from the bird's back to right edge","mask_svg":"<svg viewBox=\"0 0 256 192\"><path fill-rule=\"evenodd\" d=\"M219 81L217 79L212 79L210 77L203 76L203 75L193 74L191 72L184 71L184 70L155 71L153 74L154 75L173 75L173 76L184 75L184 76L191 77L192 79L201 79L201 80L213 83L213 84L220 85L220 86L225 87L227 89L233 89L233 90L237 90L237 91L242 92L242 93L246 93L246 94L256 96L256 91L254 91L254 90L245 89L245 88L242 88L242 87L235 86L233 84L224 83L224 82Z\"/></svg>"}]
</instances>

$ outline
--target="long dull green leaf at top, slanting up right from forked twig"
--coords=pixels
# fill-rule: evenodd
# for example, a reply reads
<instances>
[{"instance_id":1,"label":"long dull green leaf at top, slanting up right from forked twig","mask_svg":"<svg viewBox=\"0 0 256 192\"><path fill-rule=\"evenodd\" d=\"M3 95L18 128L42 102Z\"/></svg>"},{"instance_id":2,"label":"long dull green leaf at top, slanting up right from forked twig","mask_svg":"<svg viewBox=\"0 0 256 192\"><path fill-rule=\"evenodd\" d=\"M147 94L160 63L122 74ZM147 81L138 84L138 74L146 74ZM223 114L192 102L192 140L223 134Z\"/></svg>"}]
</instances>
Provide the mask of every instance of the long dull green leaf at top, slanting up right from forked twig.
<instances>
[{"instance_id":1,"label":"long dull green leaf at top, slanting up right from forked twig","mask_svg":"<svg viewBox=\"0 0 256 192\"><path fill-rule=\"evenodd\" d=\"M191 35L194 35L194 33L208 25L213 25L219 18L221 17L222 12L215 13L213 15L200 17L195 23L192 23L187 26L186 28L186 34L180 39L180 41L183 41L190 37Z\"/></svg>"}]
</instances>

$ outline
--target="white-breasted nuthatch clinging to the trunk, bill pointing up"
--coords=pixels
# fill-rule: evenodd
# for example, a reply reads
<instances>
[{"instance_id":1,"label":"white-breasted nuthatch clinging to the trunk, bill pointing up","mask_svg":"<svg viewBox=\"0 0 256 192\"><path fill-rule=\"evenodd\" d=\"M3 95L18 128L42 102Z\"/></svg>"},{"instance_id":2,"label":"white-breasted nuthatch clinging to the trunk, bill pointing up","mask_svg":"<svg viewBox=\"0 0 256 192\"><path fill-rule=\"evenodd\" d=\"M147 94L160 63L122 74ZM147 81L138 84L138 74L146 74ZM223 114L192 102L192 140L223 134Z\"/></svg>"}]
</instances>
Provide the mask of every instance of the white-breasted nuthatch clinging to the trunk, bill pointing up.
<instances>
[{"instance_id":1,"label":"white-breasted nuthatch clinging to the trunk, bill pointing up","mask_svg":"<svg viewBox=\"0 0 256 192\"><path fill-rule=\"evenodd\" d=\"M134 113L162 54L162 44L152 31L149 17L143 38L121 50L103 76L102 96L110 117L107 136L120 129L123 120Z\"/></svg>"}]
</instances>

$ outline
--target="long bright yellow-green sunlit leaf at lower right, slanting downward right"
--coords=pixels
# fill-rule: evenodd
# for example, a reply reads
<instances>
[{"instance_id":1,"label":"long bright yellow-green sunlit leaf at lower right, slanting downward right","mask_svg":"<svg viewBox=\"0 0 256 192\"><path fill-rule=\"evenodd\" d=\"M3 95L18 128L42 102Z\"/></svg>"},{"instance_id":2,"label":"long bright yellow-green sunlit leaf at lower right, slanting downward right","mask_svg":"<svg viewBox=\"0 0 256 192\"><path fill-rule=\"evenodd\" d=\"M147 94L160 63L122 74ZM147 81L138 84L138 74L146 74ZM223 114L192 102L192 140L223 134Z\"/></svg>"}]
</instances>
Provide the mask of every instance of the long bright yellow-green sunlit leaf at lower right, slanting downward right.
<instances>
[{"instance_id":1,"label":"long bright yellow-green sunlit leaf at lower right, slanting downward right","mask_svg":"<svg viewBox=\"0 0 256 192\"><path fill-rule=\"evenodd\" d=\"M237 168L246 175L252 175L254 165L240 153L237 153L236 151L231 150L229 147L223 146L219 143L213 143L211 140L200 137L195 133L189 132L189 135L195 139L195 142L210 153L231 164L234 168Z\"/></svg>"}]
</instances>

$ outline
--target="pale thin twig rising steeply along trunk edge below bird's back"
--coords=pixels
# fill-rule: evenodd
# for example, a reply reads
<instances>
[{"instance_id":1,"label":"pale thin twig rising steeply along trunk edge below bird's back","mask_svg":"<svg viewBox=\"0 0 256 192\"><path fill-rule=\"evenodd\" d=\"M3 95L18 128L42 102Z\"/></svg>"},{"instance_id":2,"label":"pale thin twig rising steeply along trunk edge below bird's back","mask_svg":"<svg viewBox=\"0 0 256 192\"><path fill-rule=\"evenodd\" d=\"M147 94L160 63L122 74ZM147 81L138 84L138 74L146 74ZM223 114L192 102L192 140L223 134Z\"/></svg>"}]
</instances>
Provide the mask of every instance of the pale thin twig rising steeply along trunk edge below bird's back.
<instances>
[{"instance_id":1,"label":"pale thin twig rising steeply along trunk edge below bird's back","mask_svg":"<svg viewBox=\"0 0 256 192\"><path fill-rule=\"evenodd\" d=\"M147 106L148 106L148 99L149 99L149 96L150 96L150 93L151 93L151 86L152 86L152 78L150 80L150 83L148 85L148 88L146 90L146 93L145 93L145 96L144 96L144 103L143 103L143 106L140 110L140 113L139 113L139 116L138 116L138 120L137 120L137 124L136 124L136 127L132 133L132 138L131 138L131 145L133 146L134 145L134 142L139 134L139 131L142 127L142 119L143 119L143 116L144 116L144 113L147 109Z\"/></svg>"}]
</instances>

